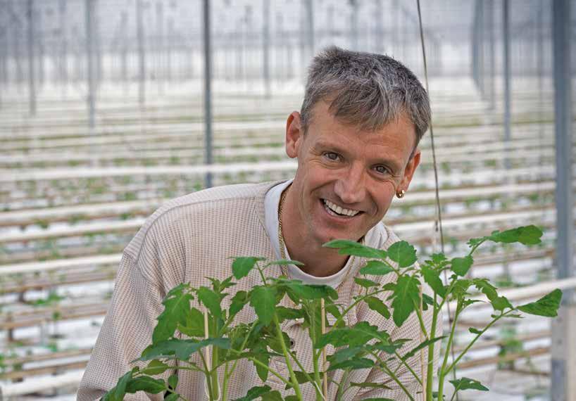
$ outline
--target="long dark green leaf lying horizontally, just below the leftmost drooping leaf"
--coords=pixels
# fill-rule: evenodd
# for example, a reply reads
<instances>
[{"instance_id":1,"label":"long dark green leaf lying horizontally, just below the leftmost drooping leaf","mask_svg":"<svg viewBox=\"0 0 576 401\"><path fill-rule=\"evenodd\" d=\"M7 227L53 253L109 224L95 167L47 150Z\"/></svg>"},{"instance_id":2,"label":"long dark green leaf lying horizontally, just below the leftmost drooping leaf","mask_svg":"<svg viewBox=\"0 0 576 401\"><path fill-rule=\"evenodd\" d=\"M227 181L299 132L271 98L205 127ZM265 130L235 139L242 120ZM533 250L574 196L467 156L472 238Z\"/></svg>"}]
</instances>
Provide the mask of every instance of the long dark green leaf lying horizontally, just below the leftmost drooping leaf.
<instances>
[{"instance_id":1,"label":"long dark green leaf lying horizontally, just below the leftmost drooping leaf","mask_svg":"<svg viewBox=\"0 0 576 401\"><path fill-rule=\"evenodd\" d=\"M159 343L149 345L142 351L139 360L149 361L158 357L170 357L174 355L177 359L187 360L194 352L201 350L208 345L215 345L225 350L230 348L229 338L208 338L206 340L180 340L173 338Z\"/></svg>"}]
</instances>

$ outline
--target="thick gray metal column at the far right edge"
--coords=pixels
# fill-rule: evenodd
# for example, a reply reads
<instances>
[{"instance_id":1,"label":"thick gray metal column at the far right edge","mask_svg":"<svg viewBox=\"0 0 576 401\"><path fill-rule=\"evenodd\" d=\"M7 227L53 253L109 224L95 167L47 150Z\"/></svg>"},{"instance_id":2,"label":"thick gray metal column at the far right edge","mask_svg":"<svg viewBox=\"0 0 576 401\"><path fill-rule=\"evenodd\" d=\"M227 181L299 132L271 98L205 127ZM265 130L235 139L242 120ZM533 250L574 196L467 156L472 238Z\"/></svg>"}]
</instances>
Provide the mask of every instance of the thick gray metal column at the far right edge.
<instances>
[{"instance_id":1,"label":"thick gray metal column at the far right edge","mask_svg":"<svg viewBox=\"0 0 576 401\"><path fill-rule=\"evenodd\" d=\"M556 129L556 272L574 276L574 186L572 186L572 87L570 76L570 0L552 1L554 114ZM551 400L576 400L576 304L564 292L552 322Z\"/></svg>"}]
</instances>

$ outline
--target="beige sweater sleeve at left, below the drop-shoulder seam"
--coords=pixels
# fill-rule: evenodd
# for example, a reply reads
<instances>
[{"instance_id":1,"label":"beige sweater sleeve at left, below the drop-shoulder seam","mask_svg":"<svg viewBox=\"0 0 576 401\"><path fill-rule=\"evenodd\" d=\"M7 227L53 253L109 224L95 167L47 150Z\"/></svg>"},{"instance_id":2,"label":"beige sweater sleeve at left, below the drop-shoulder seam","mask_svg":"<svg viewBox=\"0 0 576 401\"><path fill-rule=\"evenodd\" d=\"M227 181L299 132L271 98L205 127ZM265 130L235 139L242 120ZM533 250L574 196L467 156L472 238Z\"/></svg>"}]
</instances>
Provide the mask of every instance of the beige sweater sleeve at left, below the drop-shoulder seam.
<instances>
[{"instance_id":1,"label":"beige sweater sleeve at left, below the drop-shoulder seam","mask_svg":"<svg viewBox=\"0 0 576 401\"><path fill-rule=\"evenodd\" d=\"M163 291L144 277L127 253L116 276L111 305L101 327L92 356L77 393L78 401L99 399L130 371L144 348L151 343L156 317L161 314ZM165 371L168 377L173 371ZM125 400L161 400L162 394L127 394Z\"/></svg>"}]
</instances>

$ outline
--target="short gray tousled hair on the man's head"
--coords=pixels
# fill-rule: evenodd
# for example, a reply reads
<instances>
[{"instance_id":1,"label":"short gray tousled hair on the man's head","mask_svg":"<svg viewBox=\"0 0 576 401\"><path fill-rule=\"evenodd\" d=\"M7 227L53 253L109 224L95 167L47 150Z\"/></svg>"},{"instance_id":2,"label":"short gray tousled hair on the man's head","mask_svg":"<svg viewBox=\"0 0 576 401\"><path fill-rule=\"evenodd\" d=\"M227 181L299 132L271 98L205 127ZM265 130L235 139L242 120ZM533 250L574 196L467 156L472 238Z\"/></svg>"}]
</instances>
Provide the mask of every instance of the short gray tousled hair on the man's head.
<instances>
[{"instance_id":1,"label":"short gray tousled hair on the man's head","mask_svg":"<svg viewBox=\"0 0 576 401\"><path fill-rule=\"evenodd\" d=\"M371 132L406 112L415 127L416 145L432 115L426 90L406 66L389 56L337 46L318 53L308 69L300 111L304 132L318 101L329 101L328 110L339 120Z\"/></svg>"}]
</instances>

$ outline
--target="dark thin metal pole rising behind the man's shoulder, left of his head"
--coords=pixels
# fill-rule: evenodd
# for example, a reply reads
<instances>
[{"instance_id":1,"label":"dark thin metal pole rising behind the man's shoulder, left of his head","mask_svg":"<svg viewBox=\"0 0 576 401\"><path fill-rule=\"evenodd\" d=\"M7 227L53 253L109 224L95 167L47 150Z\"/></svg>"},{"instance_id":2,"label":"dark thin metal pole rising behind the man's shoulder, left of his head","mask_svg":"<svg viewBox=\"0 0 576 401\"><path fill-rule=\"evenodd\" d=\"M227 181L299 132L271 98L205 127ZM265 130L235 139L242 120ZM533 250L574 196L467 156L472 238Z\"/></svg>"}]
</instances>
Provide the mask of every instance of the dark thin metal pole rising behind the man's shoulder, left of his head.
<instances>
[{"instance_id":1,"label":"dark thin metal pole rising behind the man's shoulder, left of his head","mask_svg":"<svg viewBox=\"0 0 576 401\"><path fill-rule=\"evenodd\" d=\"M212 164L212 53L210 46L210 0L203 0L204 15L204 126L206 128L205 164ZM206 188L212 186L212 173L206 173Z\"/></svg>"}]
</instances>

